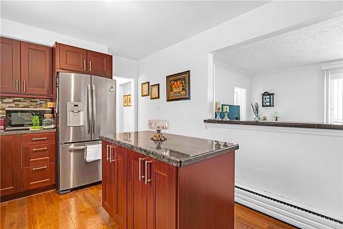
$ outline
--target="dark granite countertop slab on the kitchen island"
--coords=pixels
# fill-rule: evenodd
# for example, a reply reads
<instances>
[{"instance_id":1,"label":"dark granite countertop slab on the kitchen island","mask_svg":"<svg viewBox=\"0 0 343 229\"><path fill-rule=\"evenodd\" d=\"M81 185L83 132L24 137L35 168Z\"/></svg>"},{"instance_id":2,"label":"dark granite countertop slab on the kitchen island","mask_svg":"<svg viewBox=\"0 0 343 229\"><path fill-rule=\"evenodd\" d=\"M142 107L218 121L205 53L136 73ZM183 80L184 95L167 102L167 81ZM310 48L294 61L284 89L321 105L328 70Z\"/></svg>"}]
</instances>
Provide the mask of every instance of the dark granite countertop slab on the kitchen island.
<instances>
[{"instance_id":1,"label":"dark granite countertop slab on the kitchen island","mask_svg":"<svg viewBox=\"0 0 343 229\"><path fill-rule=\"evenodd\" d=\"M150 140L155 133L153 131L141 131L102 134L100 138L176 167L200 162L239 148L238 144L235 143L163 133L167 137L167 141L161 144L161 149L156 149L157 145Z\"/></svg>"}]
</instances>

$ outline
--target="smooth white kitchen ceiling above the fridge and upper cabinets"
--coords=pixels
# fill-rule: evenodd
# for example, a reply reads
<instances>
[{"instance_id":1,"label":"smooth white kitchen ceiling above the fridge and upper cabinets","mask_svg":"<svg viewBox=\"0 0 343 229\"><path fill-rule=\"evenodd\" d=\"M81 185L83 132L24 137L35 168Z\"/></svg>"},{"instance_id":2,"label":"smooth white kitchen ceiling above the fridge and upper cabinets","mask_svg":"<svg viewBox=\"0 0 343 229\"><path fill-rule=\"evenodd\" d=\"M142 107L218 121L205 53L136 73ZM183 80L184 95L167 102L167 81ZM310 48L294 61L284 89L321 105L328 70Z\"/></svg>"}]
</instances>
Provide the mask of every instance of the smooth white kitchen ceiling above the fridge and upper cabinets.
<instances>
[{"instance_id":1,"label":"smooth white kitchen ceiling above the fridge and upper cabinets","mask_svg":"<svg viewBox=\"0 0 343 229\"><path fill-rule=\"evenodd\" d=\"M138 60L266 1L1 1L1 18Z\"/></svg>"}]
</instances>

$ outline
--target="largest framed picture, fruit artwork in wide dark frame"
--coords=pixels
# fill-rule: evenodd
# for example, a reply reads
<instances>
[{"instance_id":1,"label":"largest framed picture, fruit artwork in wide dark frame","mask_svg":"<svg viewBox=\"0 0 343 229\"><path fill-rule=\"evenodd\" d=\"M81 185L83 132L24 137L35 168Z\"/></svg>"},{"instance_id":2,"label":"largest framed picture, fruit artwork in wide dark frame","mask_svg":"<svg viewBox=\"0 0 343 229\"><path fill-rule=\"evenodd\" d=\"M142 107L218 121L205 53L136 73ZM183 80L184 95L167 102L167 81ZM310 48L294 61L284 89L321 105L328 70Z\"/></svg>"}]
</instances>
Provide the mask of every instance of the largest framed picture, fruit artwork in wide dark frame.
<instances>
[{"instance_id":1,"label":"largest framed picture, fruit artwork in wide dark frame","mask_svg":"<svg viewBox=\"0 0 343 229\"><path fill-rule=\"evenodd\" d=\"M191 99L191 71L167 75L167 101Z\"/></svg>"}]
</instances>

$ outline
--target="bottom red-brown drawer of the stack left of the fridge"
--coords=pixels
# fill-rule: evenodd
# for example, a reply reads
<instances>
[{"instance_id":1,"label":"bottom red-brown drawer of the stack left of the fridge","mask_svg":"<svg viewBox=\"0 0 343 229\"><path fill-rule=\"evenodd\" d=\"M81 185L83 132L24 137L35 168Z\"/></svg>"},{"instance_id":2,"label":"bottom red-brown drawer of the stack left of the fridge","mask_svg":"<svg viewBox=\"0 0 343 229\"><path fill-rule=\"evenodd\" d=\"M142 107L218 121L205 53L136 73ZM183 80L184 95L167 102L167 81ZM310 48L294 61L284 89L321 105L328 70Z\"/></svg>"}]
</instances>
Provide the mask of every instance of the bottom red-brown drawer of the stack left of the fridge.
<instances>
[{"instance_id":1,"label":"bottom red-brown drawer of the stack left of the fridge","mask_svg":"<svg viewBox=\"0 0 343 229\"><path fill-rule=\"evenodd\" d=\"M55 163L23 168L23 191L55 184Z\"/></svg>"}]
</instances>

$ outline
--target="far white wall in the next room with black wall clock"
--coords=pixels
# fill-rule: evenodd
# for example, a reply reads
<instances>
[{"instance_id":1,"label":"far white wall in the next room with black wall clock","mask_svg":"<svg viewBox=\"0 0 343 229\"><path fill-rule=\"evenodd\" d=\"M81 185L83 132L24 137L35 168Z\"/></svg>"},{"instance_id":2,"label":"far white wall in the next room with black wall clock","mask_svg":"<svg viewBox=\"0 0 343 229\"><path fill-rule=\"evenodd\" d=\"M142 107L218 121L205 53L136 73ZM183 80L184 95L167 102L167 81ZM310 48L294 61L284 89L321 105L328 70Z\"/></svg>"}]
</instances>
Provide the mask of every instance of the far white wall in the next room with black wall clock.
<instances>
[{"instance_id":1,"label":"far white wall in the next room with black wall clock","mask_svg":"<svg viewBox=\"0 0 343 229\"><path fill-rule=\"evenodd\" d=\"M260 104L260 117L274 120L278 111L279 121L324 123L324 71L319 64L254 75L251 85L250 101ZM274 107L262 107L265 91L275 93Z\"/></svg>"}]
</instances>

